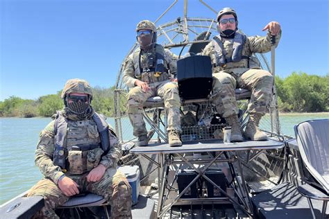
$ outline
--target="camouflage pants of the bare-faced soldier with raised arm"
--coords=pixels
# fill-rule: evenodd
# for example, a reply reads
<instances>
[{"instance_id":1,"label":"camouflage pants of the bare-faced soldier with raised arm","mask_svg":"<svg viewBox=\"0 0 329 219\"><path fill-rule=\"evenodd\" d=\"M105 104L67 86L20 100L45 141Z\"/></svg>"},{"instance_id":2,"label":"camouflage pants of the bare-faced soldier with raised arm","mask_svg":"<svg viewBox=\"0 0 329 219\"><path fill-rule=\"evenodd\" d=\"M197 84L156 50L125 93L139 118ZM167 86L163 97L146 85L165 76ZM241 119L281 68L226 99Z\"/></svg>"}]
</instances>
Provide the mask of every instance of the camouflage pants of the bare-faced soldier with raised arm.
<instances>
[{"instance_id":1,"label":"camouflage pants of the bare-faced soldier with raised arm","mask_svg":"<svg viewBox=\"0 0 329 219\"><path fill-rule=\"evenodd\" d=\"M235 88L244 88L251 91L248 112L264 115L271 101L273 76L262 69L249 69L237 76L233 71L219 71L212 74L212 89L214 104L217 112L226 118L237 114Z\"/></svg>"}]
</instances>

